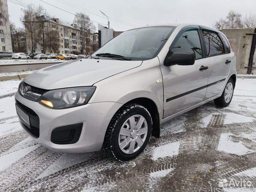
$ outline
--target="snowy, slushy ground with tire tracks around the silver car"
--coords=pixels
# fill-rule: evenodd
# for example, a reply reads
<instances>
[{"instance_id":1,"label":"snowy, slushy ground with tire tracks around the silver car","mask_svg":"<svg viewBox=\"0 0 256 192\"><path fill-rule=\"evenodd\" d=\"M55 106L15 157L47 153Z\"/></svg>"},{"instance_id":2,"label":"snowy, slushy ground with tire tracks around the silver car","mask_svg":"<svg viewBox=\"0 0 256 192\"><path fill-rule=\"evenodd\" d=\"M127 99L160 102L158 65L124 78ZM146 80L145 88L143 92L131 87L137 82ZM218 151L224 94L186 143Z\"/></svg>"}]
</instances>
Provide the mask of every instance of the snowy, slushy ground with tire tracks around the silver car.
<instances>
[{"instance_id":1,"label":"snowy, slushy ground with tire tracks around the silver car","mask_svg":"<svg viewBox=\"0 0 256 192\"><path fill-rule=\"evenodd\" d=\"M255 191L256 79L237 79L226 108L209 102L164 123L161 137L129 162L34 142L15 111L19 83L0 82L0 191ZM224 180L252 186L219 186Z\"/></svg>"}]
</instances>

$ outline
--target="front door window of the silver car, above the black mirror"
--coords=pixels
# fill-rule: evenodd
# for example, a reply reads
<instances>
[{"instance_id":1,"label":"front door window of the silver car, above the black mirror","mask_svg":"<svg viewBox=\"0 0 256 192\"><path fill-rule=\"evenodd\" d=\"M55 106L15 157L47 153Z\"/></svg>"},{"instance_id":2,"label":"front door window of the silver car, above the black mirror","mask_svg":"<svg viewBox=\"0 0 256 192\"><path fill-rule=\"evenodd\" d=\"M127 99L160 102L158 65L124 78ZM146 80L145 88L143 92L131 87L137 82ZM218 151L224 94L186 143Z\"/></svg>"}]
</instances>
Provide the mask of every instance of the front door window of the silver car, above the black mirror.
<instances>
[{"instance_id":1,"label":"front door window of the silver car, above the black mirror","mask_svg":"<svg viewBox=\"0 0 256 192\"><path fill-rule=\"evenodd\" d=\"M176 51L192 52L196 59L202 57L202 48L197 29L187 30L178 37L174 46L170 47L170 55Z\"/></svg>"}]
</instances>

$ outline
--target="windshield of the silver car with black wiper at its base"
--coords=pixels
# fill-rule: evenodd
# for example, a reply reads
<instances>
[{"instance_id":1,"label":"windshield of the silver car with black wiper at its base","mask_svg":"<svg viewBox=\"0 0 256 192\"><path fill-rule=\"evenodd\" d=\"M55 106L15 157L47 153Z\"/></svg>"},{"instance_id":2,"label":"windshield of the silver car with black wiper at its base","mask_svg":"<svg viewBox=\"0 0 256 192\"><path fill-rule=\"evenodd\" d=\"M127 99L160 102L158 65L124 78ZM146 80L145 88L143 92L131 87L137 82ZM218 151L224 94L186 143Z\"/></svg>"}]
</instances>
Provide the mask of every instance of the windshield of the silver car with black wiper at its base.
<instances>
[{"instance_id":1,"label":"windshield of the silver car with black wiper at its base","mask_svg":"<svg viewBox=\"0 0 256 192\"><path fill-rule=\"evenodd\" d=\"M158 55L174 28L174 26L159 26L125 31L98 49L92 56L110 59L116 58L118 55L130 60L154 58ZM104 53L107 54L104 55Z\"/></svg>"}]
</instances>

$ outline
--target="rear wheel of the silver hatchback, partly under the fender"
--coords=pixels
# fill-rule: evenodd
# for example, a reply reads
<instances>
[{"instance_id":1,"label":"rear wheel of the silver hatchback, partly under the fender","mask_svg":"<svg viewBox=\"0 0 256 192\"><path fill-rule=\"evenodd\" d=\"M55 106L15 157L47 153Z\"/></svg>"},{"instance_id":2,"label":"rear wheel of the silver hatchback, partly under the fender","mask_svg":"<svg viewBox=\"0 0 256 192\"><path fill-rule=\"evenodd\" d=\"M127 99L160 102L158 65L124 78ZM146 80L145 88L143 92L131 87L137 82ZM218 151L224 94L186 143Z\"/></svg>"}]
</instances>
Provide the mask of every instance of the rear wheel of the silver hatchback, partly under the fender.
<instances>
[{"instance_id":1,"label":"rear wheel of the silver hatchback, partly under the fender","mask_svg":"<svg viewBox=\"0 0 256 192\"><path fill-rule=\"evenodd\" d=\"M234 82L230 78L225 86L225 89L223 90L223 93L220 97L215 98L213 101L215 105L219 107L227 107L229 106L234 93Z\"/></svg>"}]
</instances>

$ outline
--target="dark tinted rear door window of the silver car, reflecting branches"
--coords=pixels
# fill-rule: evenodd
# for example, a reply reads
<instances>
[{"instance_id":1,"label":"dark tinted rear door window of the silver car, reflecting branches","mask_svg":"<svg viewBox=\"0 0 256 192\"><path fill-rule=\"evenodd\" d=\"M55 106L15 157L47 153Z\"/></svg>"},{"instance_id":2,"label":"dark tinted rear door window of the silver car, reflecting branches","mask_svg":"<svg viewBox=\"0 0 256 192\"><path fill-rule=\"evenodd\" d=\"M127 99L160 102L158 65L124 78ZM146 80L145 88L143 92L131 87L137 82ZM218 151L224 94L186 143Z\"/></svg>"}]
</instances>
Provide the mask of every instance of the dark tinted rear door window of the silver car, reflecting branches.
<instances>
[{"instance_id":1,"label":"dark tinted rear door window of the silver car, reflecting branches","mask_svg":"<svg viewBox=\"0 0 256 192\"><path fill-rule=\"evenodd\" d=\"M216 32L203 30L203 36L206 43L206 56L225 53L222 41Z\"/></svg>"}]
</instances>

